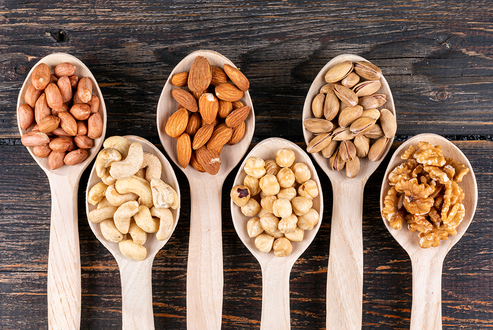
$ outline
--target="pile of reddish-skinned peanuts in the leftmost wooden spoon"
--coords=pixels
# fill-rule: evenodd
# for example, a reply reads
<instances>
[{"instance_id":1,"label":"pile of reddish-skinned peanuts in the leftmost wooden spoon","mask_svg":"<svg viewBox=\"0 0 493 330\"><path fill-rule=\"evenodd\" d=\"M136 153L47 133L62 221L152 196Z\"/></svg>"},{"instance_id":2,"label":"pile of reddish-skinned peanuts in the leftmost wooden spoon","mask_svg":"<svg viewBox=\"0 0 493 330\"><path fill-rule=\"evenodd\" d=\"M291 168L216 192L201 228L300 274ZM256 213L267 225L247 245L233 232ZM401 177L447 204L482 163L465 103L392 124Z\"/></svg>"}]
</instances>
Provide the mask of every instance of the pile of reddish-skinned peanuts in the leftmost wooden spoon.
<instances>
[{"instance_id":1,"label":"pile of reddish-skinned peanuts in the leftmost wooden spoon","mask_svg":"<svg viewBox=\"0 0 493 330\"><path fill-rule=\"evenodd\" d=\"M33 147L35 156L48 157L50 168L57 169L87 158L93 139L103 133L103 119L89 77L79 79L68 62L53 71L44 63L34 68L17 119L23 130L31 128L22 135L22 144Z\"/></svg>"}]
</instances>

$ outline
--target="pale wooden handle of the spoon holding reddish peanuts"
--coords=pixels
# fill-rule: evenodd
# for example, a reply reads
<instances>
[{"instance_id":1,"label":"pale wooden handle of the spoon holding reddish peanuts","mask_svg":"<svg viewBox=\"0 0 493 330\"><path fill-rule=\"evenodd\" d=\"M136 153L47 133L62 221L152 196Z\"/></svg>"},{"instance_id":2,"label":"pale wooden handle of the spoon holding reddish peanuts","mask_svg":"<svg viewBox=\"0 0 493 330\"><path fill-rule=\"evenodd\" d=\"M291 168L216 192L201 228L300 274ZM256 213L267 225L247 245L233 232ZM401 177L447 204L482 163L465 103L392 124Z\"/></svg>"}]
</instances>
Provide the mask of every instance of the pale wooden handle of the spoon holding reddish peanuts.
<instances>
[{"instance_id":1,"label":"pale wooden handle of the spoon holding reddish peanuts","mask_svg":"<svg viewBox=\"0 0 493 330\"><path fill-rule=\"evenodd\" d=\"M48 175L51 224L48 253L48 329L80 327L78 179Z\"/></svg>"}]
</instances>

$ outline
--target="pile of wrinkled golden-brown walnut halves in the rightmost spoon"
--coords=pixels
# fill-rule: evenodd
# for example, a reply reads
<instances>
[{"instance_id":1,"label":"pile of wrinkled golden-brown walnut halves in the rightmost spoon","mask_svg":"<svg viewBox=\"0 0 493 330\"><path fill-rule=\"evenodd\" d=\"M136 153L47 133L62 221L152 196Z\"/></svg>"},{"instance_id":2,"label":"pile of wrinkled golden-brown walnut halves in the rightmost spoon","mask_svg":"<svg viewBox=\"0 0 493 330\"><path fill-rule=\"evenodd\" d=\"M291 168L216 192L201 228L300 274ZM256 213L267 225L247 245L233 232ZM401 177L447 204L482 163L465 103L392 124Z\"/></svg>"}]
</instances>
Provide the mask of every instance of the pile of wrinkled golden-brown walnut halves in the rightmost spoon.
<instances>
[{"instance_id":1,"label":"pile of wrinkled golden-brown walnut halves in the rightmost spoon","mask_svg":"<svg viewBox=\"0 0 493 330\"><path fill-rule=\"evenodd\" d=\"M406 160L388 175L392 186L384 200L382 216L399 230L406 222L419 231L422 248L437 247L440 239L456 235L464 218L464 193L458 186L469 168L443 156L439 145L418 142L402 155Z\"/></svg>"}]
</instances>

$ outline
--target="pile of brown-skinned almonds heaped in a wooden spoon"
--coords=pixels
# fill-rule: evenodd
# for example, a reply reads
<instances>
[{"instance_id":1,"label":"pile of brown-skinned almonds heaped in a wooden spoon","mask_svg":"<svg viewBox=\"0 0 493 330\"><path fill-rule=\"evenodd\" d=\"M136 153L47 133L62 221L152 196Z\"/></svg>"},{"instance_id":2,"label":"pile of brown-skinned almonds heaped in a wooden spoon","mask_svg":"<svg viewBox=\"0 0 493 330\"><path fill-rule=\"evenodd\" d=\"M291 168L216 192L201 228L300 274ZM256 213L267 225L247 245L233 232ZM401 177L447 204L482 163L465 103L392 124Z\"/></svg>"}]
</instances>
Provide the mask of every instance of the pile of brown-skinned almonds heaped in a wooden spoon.
<instances>
[{"instance_id":1,"label":"pile of brown-skinned almonds heaped in a wooden spoon","mask_svg":"<svg viewBox=\"0 0 493 330\"><path fill-rule=\"evenodd\" d=\"M171 92L178 106L165 127L177 139L178 162L214 175L221 165L222 147L238 143L245 134L250 107L240 99L250 86L248 79L234 66L211 66L198 56L189 72L176 73L171 82L184 87Z\"/></svg>"}]
</instances>

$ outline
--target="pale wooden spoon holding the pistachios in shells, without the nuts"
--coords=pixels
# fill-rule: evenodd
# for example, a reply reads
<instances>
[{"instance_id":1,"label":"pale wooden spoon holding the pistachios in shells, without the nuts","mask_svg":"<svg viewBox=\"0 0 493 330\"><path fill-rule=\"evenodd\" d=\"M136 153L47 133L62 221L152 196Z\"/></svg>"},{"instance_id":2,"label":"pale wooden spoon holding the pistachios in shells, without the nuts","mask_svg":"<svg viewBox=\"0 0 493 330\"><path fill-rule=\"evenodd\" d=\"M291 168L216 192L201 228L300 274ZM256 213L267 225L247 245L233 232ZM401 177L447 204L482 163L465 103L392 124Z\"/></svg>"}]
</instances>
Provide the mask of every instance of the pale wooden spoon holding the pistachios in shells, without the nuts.
<instances>
[{"instance_id":1,"label":"pale wooden spoon holding the pistachios in shells, without the nuts","mask_svg":"<svg viewBox=\"0 0 493 330\"><path fill-rule=\"evenodd\" d=\"M367 61L356 55L339 55L327 63L315 78L303 108L303 120L313 118L312 100L326 84L325 73L344 61ZM387 81L380 78L382 87L377 92L385 94L387 102L382 108L387 108L395 115L394 101ZM313 133L303 128L307 144L314 138ZM370 175L377 169L387 155L393 138L389 139L384 154L377 162L371 162L367 157L360 159L359 174L350 179L343 169L340 172L330 168L328 159L320 152L313 157L327 174L332 183L333 209L330 232L330 256L327 269L327 329L361 329L362 299L363 299L363 189Z\"/></svg>"}]
</instances>

